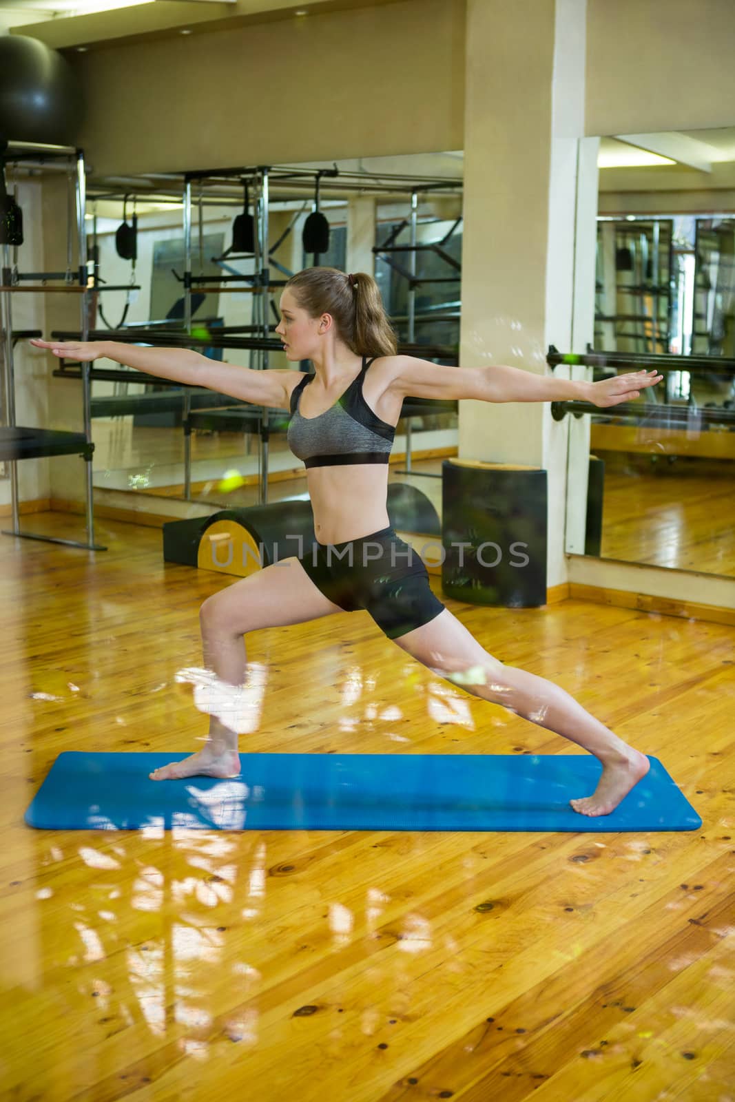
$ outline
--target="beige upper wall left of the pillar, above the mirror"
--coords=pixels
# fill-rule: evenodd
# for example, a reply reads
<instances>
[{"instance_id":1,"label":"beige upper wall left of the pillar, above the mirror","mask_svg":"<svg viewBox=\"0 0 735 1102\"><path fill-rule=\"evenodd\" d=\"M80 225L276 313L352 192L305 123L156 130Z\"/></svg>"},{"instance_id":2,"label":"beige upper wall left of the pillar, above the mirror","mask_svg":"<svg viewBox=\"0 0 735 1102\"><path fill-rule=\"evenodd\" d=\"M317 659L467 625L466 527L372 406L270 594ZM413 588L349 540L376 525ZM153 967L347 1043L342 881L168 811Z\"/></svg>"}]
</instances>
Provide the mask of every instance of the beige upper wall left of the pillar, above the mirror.
<instances>
[{"instance_id":1,"label":"beige upper wall left of the pillar, above the mirror","mask_svg":"<svg viewBox=\"0 0 735 1102\"><path fill-rule=\"evenodd\" d=\"M75 55L96 174L461 149L464 4L372 9Z\"/></svg>"}]
</instances>

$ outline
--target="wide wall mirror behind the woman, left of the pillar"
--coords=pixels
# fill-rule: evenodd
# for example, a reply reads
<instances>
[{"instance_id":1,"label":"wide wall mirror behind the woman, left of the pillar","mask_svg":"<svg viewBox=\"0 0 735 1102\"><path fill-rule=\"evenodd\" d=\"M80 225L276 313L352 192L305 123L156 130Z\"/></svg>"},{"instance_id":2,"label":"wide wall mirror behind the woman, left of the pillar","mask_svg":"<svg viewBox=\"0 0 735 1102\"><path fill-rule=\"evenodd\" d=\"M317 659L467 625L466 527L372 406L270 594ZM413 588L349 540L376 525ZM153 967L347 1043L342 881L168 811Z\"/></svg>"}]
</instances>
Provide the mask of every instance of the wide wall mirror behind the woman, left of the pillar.
<instances>
[{"instance_id":1,"label":"wide wall mirror behind the woman, left of the pillar","mask_svg":"<svg viewBox=\"0 0 735 1102\"><path fill-rule=\"evenodd\" d=\"M192 182L188 303L183 179L91 181L88 241L100 289L91 328L100 339L181 343L246 367L307 370L285 360L273 329L280 284L316 262L375 274L399 347L448 367L460 343L462 164L461 153L435 153L281 165L270 170L267 195L257 176ZM266 206L271 285L259 293L262 242L247 239L244 224L256 226L257 238ZM304 239L315 210L328 225L326 249L316 257ZM120 227L132 228L133 219L134 260L126 256L125 234L120 248ZM187 345L186 334L196 343ZM248 347L263 341L271 347ZM224 507L305 495L284 417L269 413L264 458L262 421L248 421L236 404L96 361L95 487ZM390 477L417 479L424 493L440 495L435 476L456 444L455 409L406 409L394 447L406 458L391 465Z\"/></svg>"}]
</instances>

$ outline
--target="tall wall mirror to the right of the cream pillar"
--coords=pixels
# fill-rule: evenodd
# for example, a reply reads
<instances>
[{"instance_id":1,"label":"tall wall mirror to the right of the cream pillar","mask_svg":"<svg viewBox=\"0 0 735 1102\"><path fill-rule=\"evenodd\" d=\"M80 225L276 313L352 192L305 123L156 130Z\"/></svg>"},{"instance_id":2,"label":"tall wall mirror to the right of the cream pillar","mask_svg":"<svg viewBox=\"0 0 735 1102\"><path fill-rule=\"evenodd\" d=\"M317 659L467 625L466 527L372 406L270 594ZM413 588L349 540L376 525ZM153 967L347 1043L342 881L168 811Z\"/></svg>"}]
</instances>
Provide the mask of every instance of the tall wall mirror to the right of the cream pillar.
<instances>
[{"instance_id":1,"label":"tall wall mirror to the right of the cream pillar","mask_svg":"<svg viewBox=\"0 0 735 1102\"><path fill-rule=\"evenodd\" d=\"M616 356L667 359L658 387L570 433L585 553L732 577L735 129L603 138L597 163L590 377L637 369Z\"/></svg>"}]
</instances>

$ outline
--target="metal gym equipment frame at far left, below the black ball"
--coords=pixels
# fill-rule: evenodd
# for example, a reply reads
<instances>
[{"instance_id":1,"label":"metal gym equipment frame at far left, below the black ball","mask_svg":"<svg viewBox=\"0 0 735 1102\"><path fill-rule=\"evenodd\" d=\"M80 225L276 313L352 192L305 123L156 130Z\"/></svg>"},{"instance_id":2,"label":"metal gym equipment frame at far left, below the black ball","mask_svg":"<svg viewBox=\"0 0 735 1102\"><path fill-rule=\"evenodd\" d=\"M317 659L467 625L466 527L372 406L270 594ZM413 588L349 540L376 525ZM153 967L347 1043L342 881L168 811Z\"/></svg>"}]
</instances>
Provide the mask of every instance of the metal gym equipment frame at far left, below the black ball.
<instances>
[{"instance_id":1,"label":"metal gym equipment frame at far left, below the black ball","mask_svg":"<svg viewBox=\"0 0 735 1102\"><path fill-rule=\"evenodd\" d=\"M18 292L66 292L78 294L82 339L88 334L88 300L87 287L87 238L85 227L86 212L86 174L83 150L72 145L51 145L35 142L9 141L0 160L0 171L4 173L6 164L33 162L33 166L55 166L60 161L66 162L67 175L74 172L74 196L76 210L76 233L78 242L78 267L72 270L72 217L67 219L67 268L65 272L19 272L18 246L13 246L13 266L10 266L10 246L2 246L2 277L0 279L0 322L4 338L2 342L3 388L4 388L4 421L0 429L0 458L10 464L10 493L12 529L3 530L7 536L20 536L24 539L42 540L46 543L64 543L67 547L84 548L88 551L105 551L95 543L91 456L95 445L91 441L91 419L89 413L89 364L82 365L84 433L63 432L48 429L31 429L15 423L15 377L13 358L12 331L12 295ZM63 166L62 166L63 171ZM29 287L21 287L23 281L35 281ZM47 283L62 285L48 287ZM18 495L18 461L37 458L51 455L79 454L85 461L86 469L86 531L87 542L65 540L58 537L40 536L34 532L23 532L20 529L20 506Z\"/></svg>"}]
</instances>

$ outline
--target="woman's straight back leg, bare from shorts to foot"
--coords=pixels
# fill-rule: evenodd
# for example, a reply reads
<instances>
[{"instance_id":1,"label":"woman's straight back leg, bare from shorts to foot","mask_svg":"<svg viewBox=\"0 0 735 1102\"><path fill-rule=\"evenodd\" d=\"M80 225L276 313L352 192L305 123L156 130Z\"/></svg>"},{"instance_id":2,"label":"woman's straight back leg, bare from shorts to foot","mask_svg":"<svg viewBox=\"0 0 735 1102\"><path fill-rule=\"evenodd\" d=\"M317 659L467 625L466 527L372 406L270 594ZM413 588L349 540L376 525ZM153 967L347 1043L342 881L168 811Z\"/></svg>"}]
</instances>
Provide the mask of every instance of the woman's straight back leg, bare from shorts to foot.
<instances>
[{"instance_id":1,"label":"woman's straight back leg, bare from shorts to foot","mask_svg":"<svg viewBox=\"0 0 735 1102\"><path fill-rule=\"evenodd\" d=\"M595 792L570 800L581 814L608 815L648 773L645 754L614 735L559 685L498 661L448 608L394 641L448 681L570 738L599 758L603 775Z\"/></svg>"}]
</instances>

